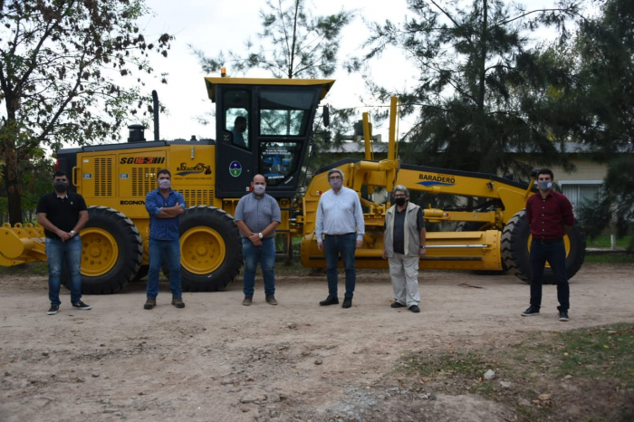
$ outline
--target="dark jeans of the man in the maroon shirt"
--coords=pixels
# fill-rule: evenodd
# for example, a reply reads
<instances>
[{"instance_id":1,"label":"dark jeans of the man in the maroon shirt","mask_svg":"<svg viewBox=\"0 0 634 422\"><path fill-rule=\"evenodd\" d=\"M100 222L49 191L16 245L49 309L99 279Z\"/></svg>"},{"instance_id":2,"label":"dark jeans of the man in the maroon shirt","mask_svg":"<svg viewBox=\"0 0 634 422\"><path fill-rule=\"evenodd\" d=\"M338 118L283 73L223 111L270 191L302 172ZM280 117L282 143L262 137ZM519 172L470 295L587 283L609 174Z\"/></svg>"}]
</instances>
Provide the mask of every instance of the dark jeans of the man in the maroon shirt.
<instances>
[{"instance_id":1,"label":"dark jeans of the man in the maroon shirt","mask_svg":"<svg viewBox=\"0 0 634 422\"><path fill-rule=\"evenodd\" d=\"M552 273L557 279L557 309L568 311L570 286L566 273L566 247L563 245L563 239L545 245L538 240L531 243L531 308L539 310L542 307L542 276L546 261L551 264Z\"/></svg>"}]
</instances>

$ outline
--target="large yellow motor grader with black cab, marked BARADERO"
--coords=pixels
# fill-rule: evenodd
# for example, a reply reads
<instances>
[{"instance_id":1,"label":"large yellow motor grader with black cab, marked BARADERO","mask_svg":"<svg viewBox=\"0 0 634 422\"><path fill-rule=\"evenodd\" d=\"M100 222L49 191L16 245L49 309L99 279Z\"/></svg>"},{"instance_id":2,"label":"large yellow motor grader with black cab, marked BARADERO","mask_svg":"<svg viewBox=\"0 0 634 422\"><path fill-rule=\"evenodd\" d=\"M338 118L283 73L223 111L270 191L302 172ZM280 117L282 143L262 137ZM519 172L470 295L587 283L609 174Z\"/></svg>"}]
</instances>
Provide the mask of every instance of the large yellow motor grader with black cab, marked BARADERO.
<instances>
[{"instance_id":1,"label":"large yellow motor grader with black cab, marked BARADERO","mask_svg":"<svg viewBox=\"0 0 634 422\"><path fill-rule=\"evenodd\" d=\"M465 222L463 230L427 234L427 256L421 268L510 271L530 279L531 235L524 215L528 184L503 177L444 168L408 165L397 157L398 100L392 99L388 158L372 159L369 116L364 114L365 159L343 159L318 169L305 195L297 197L303 158L312 142L313 120L333 80L205 78L208 96L216 103L216 139L161 140L155 117L154 140L144 139L143 127L130 127L128 142L60 149L58 169L72 178L72 189L89 206L90 220L82 236L82 291L114 293L148 272L149 216L145 197L156 188L157 172L168 168L172 187L185 197L180 216L183 288L189 292L218 291L239 273L242 247L233 219L235 206L250 192L255 174L267 180L267 194L282 210L277 233L303 236L302 264L325 267L314 235L317 205L330 187L326 174L340 168L344 186L360 193L366 235L356 251L360 268L387 268L381 259L383 224L389 201L375 201L379 190L396 185L434 195L486 200L484 210L425 209L429 223ZM157 110L158 107L155 107ZM324 124L328 123L324 107ZM246 129L235 129L244 118ZM361 192L364 192L361 195ZM366 194L367 192L367 194ZM472 228L473 231L466 231ZM585 254L585 237L578 224L566 236L566 267L576 273ZM39 225L0 228L0 264L9 266L46 260ZM552 279L546 272L545 282Z\"/></svg>"}]
</instances>

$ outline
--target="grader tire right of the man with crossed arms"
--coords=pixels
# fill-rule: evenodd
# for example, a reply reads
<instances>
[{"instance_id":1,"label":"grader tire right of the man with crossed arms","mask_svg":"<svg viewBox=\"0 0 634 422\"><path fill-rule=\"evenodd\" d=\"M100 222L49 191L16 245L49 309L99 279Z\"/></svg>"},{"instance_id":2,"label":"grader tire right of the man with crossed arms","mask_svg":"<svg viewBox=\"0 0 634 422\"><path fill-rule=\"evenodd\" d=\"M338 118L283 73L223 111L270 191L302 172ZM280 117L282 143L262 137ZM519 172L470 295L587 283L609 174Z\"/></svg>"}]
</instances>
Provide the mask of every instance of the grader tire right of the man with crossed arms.
<instances>
[{"instance_id":1,"label":"grader tire right of the man with crossed arms","mask_svg":"<svg viewBox=\"0 0 634 422\"><path fill-rule=\"evenodd\" d=\"M213 206L192 206L180 217L183 290L217 292L231 283L243 264L234 219Z\"/></svg>"}]
</instances>

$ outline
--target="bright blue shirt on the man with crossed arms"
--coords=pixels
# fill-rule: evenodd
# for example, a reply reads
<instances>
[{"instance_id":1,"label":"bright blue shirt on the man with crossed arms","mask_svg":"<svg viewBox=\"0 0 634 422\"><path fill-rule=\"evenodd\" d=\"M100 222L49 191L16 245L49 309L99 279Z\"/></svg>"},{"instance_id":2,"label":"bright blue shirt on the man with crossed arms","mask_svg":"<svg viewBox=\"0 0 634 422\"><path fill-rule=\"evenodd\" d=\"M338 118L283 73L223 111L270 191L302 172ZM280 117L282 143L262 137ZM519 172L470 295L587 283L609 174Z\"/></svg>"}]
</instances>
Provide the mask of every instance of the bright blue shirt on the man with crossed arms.
<instances>
[{"instance_id":1,"label":"bright blue shirt on the man with crossed arms","mask_svg":"<svg viewBox=\"0 0 634 422\"><path fill-rule=\"evenodd\" d=\"M170 206L176 206L178 202L179 206L185 209L185 198L176 190L169 189L168 198L163 197L160 193L160 189L154 189L148 192L145 197L145 209L149 214L149 238L154 240L178 240L180 233L178 231L178 224L180 222L180 216L173 218L159 218L161 208L168 208Z\"/></svg>"}]
</instances>

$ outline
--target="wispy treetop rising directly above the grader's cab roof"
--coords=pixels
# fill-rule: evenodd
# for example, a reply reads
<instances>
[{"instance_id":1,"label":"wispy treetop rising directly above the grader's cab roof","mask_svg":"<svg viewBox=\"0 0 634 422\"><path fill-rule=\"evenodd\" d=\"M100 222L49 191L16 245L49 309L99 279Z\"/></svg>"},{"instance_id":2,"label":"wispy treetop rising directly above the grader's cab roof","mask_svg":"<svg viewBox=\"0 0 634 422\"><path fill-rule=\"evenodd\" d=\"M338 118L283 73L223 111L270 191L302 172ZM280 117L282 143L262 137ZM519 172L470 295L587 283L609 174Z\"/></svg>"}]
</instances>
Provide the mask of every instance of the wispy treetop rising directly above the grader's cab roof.
<instances>
[{"instance_id":1,"label":"wispy treetop rising directly above the grader's cab roof","mask_svg":"<svg viewBox=\"0 0 634 422\"><path fill-rule=\"evenodd\" d=\"M351 23L354 13L341 10L338 14L314 17L305 0L276 3L267 0L260 17L263 31L257 35L263 43L255 47L247 41L246 53L229 51L225 56L221 51L216 57L207 57L202 50L189 45L203 71L216 73L228 66L235 73L264 69L275 78L328 77L339 64L341 31Z\"/></svg>"}]
</instances>

